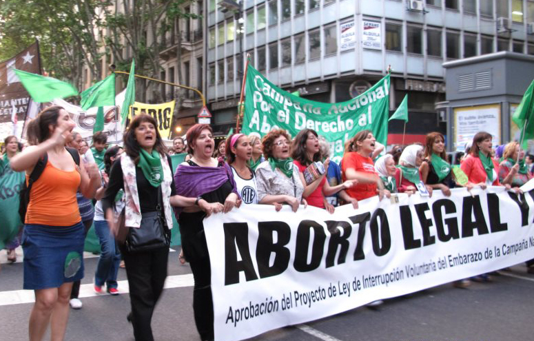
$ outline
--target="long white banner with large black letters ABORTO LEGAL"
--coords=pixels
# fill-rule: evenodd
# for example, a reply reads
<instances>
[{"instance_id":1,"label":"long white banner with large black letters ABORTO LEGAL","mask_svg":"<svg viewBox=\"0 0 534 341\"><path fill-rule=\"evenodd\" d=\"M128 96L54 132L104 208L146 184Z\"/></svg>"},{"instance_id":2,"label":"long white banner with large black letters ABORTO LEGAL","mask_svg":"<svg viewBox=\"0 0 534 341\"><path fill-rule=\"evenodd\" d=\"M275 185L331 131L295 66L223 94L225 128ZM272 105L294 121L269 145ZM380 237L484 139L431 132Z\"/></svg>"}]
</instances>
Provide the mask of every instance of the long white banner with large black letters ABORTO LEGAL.
<instances>
[{"instance_id":1,"label":"long white banner with large black letters ABORTO LEGAL","mask_svg":"<svg viewBox=\"0 0 534 341\"><path fill-rule=\"evenodd\" d=\"M242 340L534 258L534 180L205 219L215 340Z\"/></svg>"}]
</instances>

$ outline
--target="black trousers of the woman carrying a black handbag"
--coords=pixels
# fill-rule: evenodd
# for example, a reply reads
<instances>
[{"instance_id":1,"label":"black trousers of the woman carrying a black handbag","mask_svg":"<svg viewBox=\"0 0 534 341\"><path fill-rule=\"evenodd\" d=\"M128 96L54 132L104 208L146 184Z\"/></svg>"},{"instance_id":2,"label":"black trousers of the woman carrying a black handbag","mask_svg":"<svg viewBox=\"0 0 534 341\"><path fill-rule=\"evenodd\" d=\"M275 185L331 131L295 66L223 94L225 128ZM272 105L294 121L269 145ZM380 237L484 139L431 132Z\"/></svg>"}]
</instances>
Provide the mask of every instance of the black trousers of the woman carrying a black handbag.
<instances>
[{"instance_id":1,"label":"black trousers of the woman carrying a black handbag","mask_svg":"<svg viewBox=\"0 0 534 341\"><path fill-rule=\"evenodd\" d=\"M152 313L163 291L167 277L169 248L130 254L124 247L126 275L130 286L130 304L132 304L132 326L136 341L152 341Z\"/></svg>"}]
</instances>

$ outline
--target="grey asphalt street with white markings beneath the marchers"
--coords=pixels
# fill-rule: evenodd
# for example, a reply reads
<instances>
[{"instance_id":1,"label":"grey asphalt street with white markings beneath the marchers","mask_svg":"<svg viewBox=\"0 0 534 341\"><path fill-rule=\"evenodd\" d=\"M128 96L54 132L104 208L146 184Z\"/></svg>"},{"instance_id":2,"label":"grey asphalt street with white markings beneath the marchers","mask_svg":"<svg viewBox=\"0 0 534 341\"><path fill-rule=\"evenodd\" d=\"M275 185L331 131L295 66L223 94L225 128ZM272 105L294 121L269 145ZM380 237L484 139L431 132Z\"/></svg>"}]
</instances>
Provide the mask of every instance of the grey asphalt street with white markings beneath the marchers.
<instances>
[{"instance_id":1,"label":"grey asphalt street with white markings beneath the marchers","mask_svg":"<svg viewBox=\"0 0 534 341\"><path fill-rule=\"evenodd\" d=\"M32 292L21 290L23 264L21 250L18 251L19 262L14 264L6 264L6 251L0 251L0 340L28 339ZM130 301L124 293L125 271L119 271L119 289L123 294L97 296L92 291L97 259L85 254L83 308L71 310L65 340L134 340L126 320ZM155 340L200 340L194 327L190 273L189 266L179 264L178 252L171 252L167 289L152 320ZM501 273L491 283L473 282L468 289L442 285L387 300L378 309L360 307L330 318L276 329L251 340L532 340L534 276L526 273L524 265Z\"/></svg>"}]
</instances>

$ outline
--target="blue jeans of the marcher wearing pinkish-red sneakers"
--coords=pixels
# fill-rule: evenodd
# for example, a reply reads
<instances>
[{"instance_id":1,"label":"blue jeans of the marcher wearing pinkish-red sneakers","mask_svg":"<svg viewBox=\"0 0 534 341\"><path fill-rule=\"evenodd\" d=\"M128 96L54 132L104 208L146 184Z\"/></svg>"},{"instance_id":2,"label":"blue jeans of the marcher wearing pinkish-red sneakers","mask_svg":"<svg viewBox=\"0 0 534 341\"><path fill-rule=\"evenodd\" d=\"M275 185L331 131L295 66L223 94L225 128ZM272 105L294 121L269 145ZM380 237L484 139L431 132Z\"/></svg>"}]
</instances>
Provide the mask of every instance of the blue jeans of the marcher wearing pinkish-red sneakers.
<instances>
[{"instance_id":1,"label":"blue jeans of the marcher wearing pinkish-red sneakers","mask_svg":"<svg viewBox=\"0 0 534 341\"><path fill-rule=\"evenodd\" d=\"M99 237L101 248L99 264L94 273L94 285L102 287L105 284L108 290L116 288L121 252L119 247L116 247L115 238L106 220L95 220L94 232Z\"/></svg>"}]
</instances>

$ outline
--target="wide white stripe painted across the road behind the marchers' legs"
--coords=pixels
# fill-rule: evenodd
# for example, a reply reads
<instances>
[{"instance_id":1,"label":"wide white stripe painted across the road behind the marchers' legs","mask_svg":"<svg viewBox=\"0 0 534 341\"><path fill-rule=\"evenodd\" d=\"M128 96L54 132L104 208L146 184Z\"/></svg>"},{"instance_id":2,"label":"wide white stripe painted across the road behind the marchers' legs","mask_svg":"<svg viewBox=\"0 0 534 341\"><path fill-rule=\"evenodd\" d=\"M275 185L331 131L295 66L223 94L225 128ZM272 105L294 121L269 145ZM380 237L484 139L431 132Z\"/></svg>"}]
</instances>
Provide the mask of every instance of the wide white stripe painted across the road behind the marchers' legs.
<instances>
[{"instance_id":1,"label":"wide white stripe painted across the road behind the marchers' legs","mask_svg":"<svg viewBox=\"0 0 534 341\"><path fill-rule=\"evenodd\" d=\"M165 280L165 289L172 288L182 288L182 287L192 287L194 285L193 274L189 273L187 275L176 275L176 276L167 276ZM105 292L105 288L103 288ZM119 280L119 292L120 293L129 293L130 288L128 287L127 280ZM80 286L79 298L85 297L94 297L94 296L105 296L107 293L95 293L93 289L93 283L85 284ZM35 296L33 290L12 290L12 291L1 291L0 292L0 306L3 305L12 305L12 304L23 304L23 303L33 303L35 302Z\"/></svg>"}]
</instances>

